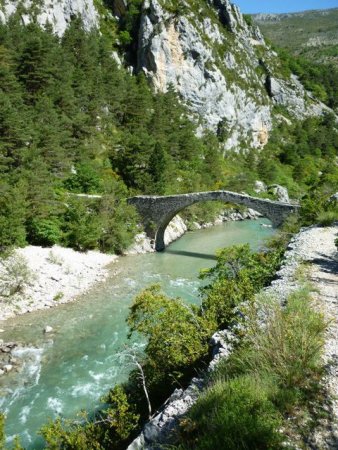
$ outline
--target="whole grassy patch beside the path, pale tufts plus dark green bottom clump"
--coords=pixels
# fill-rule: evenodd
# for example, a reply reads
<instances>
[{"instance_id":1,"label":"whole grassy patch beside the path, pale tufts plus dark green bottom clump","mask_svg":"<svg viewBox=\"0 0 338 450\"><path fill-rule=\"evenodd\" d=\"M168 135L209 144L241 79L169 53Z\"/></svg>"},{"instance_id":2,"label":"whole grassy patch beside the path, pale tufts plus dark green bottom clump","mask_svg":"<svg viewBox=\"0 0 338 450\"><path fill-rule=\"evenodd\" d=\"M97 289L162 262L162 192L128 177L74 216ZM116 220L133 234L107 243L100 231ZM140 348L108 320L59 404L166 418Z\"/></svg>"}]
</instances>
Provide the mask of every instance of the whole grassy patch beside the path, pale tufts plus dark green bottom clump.
<instances>
[{"instance_id":1,"label":"whole grassy patch beside the path, pale tufts plus dark green bottom clump","mask_svg":"<svg viewBox=\"0 0 338 450\"><path fill-rule=\"evenodd\" d=\"M178 448L287 448L291 430L299 436L311 426L327 324L309 290L290 295L285 307L262 297L247 317L241 344L182 421Z\"/></svg>"}]
</instances>

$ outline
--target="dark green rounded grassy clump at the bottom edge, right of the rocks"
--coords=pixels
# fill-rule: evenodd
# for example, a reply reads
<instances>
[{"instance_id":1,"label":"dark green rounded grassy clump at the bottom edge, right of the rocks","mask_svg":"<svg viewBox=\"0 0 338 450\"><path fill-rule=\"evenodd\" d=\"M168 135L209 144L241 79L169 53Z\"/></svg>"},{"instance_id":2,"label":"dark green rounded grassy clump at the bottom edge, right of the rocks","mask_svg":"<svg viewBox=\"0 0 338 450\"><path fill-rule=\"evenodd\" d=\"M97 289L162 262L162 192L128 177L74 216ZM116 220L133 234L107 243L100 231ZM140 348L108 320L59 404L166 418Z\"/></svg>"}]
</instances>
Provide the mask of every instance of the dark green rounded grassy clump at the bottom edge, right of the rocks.
<instances>
[{"instance_id":1,"label":"dark green rounded grassy clump at the bottom edge, right of the rocks","mask_svg":"<svg viewBox=\"0 0 338 450\"><path fill-rule=\"evenodd\" d=\"M187 444L181 448L280 448L282 417L270 397L269 387L250 376L216 382L192 407L189 419L183 421Z\"/></svg>"}]
</instances>

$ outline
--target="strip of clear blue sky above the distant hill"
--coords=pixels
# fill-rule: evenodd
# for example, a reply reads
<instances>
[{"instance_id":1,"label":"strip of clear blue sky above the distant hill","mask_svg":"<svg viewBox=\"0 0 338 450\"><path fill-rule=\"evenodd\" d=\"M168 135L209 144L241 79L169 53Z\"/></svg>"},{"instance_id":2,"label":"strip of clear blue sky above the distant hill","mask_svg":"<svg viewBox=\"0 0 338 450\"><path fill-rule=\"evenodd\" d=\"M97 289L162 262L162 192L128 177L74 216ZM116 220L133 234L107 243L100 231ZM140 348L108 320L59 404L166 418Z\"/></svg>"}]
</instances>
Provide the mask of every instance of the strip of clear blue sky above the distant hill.
<instances>
[{"instance_id":1,"label":"strip of clear blue sky above the distant hill","mask_svg":"<svg viewBox=\"0 0 338 450\"><path fill-rule=\"evenodd\" d=\"M338 0L232 0L232 3L238 5L242 13L247 14L338 8Z\"/></svg>"}]
</instances>

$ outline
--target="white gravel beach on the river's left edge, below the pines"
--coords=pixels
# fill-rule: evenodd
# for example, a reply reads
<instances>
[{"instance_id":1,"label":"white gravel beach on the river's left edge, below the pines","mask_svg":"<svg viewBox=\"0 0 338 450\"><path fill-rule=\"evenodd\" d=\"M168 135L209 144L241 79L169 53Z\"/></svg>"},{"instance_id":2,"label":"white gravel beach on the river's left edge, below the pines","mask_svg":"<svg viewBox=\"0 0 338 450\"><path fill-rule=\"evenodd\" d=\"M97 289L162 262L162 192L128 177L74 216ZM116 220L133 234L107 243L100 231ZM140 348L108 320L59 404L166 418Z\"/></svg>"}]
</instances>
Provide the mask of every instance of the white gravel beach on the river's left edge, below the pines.
<instances>
[{"instance_id":1,"label":"white gravel beach on the river's left edge, below the pines","mask_svg":"<svg viewBox=\"0 0 338 450\"><path fill-rule=\"evenodd\" d=\"M107 266L116 259L116 255L59 246L16 249L0 268L0 319L73 300L104 281Z\"/></svg>"}]
</instances>

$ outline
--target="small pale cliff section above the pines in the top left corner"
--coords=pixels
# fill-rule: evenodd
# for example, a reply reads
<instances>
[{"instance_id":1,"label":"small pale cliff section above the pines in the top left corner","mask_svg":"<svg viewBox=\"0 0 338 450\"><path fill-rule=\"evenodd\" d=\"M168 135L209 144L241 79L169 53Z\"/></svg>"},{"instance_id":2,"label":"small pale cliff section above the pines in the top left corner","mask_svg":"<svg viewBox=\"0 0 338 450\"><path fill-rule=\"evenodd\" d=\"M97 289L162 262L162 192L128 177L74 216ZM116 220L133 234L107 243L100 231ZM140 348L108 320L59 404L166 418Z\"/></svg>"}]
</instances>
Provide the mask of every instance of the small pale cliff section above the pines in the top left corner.
<instances>
[{"instance_id":1,"label":"small pale cliff section above the pines in the top left corner","mask_svg":"<svg viewBox=\"0 0 338 450\"><path fill-rule=\"evenodd\" d=\"M38 5L34 0L2 0L0 21L6 22L17 10L20 11L23 23L29 23L36 16L39 24L51 24L59 36L62 36L71 19L76 16L82 18L86 30L98 26L98 13L93 0L50 0Z\"/></svg>"}]
</instances>

